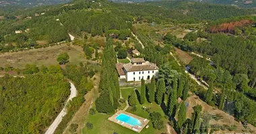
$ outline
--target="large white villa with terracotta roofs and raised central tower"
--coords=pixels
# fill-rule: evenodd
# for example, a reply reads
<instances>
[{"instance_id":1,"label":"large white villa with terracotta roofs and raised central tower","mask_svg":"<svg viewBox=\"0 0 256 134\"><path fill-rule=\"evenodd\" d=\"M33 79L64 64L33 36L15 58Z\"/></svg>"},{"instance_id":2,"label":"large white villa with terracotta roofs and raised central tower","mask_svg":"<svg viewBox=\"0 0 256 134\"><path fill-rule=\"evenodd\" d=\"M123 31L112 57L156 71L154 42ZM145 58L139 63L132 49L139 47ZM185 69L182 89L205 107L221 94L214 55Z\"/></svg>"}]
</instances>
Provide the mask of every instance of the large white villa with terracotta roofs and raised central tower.
<instances>
[{"instance_id":1,"label":"large white villa with terracotta roofs and raised central tower","mask_svg":"<svg viewBox=\"0 0 256 134\"><path fill-rule=\"evenodd\" d=\"M116 67L119 78L127 82L140 81L142 78L150 80L159 69L156 64L146 62L143 58L133 58L130 63L118 63Z\"/></svg>"}]
</instances>

